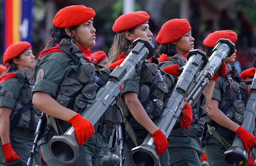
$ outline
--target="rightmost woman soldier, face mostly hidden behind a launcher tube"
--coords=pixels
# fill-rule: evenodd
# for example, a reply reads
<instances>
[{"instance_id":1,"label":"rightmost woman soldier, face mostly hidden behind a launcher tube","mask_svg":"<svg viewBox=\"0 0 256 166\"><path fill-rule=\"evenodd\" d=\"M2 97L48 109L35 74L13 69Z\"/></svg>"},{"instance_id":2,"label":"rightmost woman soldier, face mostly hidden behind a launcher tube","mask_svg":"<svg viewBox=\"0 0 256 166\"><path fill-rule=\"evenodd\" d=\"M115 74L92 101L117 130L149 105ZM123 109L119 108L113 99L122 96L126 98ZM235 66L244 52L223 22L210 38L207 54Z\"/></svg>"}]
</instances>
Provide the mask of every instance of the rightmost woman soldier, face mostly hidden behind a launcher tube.
<instances>
[{"instance_id":1,"label":"rightmost woman soldier, face mostly hidden behind a launcher tube","mask_svg":"<svg viewBox=\"0 0 256 166\"><path fill-rule=\"evenodd\" d=\"M237 35L230 30L215 31L204 39L207 56L212 54L215 43L221 39L230 39L236 42ZM232 56L227 57L227 75L217 79L212 93L211 101L207 111L210 119L205 119L208 130L214 127L213 137L207 138L205 143L205 154L211 166L227 166L224 162L224 152L228 149L228 144L232 145L235 135L239 135L244 142L246 151L253 146L256 141L254 136L239 126L243 119L244 101L247 97L247 87L241 83L238 70L231 67L230 63L236 60L236 50ZM218 107L216 107L218 105ZM213 128L212 128L213 129ZM220 136L218 136L220 135ZM221 143L223 142L223 144Z\"/></svg>"}]
</instances>

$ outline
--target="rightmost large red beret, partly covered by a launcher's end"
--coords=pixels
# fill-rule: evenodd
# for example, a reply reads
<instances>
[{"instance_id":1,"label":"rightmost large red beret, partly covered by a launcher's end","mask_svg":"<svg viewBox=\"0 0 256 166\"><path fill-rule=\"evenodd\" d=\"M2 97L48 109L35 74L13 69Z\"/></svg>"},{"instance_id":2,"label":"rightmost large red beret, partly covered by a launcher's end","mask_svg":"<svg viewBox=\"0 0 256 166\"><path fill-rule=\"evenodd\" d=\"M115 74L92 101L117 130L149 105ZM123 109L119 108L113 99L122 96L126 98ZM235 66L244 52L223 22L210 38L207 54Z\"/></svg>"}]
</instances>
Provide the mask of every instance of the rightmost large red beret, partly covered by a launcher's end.
<instances>
[{"instance_id":1,"label":"rightmost large red beret, partly covered by a launcher's end","mask_svg":"<svg viewBox=\"0 0 256 166\"><path fill-rule=\"evenodd\" d=\"M203 43L207 47L215 47L216 42L221 38L230 39L231 42L236 42L237 35L231 30L215 31L208 34Z\"/></svg>"}]
</instances>

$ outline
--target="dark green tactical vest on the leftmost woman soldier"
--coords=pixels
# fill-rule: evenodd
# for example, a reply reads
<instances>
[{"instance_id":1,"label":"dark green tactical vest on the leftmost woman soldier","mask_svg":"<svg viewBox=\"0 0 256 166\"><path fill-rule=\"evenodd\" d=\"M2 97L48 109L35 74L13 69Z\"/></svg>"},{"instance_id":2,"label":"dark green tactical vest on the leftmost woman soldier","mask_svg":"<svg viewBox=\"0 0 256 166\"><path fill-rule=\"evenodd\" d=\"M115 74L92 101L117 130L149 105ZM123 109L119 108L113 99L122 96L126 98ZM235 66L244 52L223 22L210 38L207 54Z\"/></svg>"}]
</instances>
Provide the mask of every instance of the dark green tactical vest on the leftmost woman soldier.
<instances>
[{"instance_id":1,"label":"dark green tactical vest on the leftmost woman soldier","mask_svg":"<svg viewBox=\"0 0 256 166\"><path fill-rule=\"evenodd\" d=\"M15 127L12 129L10 135L17 138L29 139L34 138L34 132L36 125L39 120L40 110L38 110L34 105L29 107L26 112L21 114L20 119L16 122L13 122L12 119L17 115L18 111L24 107L24 105L32 102L32 93L31 88L33 82L31 80L32 70L28 68L23 68L14 72L17 76L16 78L23 84L22 89L20 90L23 93L23 98L17 98L15 107L10 116L11 124L15 123Z\"/></svg>"}]
</instances>

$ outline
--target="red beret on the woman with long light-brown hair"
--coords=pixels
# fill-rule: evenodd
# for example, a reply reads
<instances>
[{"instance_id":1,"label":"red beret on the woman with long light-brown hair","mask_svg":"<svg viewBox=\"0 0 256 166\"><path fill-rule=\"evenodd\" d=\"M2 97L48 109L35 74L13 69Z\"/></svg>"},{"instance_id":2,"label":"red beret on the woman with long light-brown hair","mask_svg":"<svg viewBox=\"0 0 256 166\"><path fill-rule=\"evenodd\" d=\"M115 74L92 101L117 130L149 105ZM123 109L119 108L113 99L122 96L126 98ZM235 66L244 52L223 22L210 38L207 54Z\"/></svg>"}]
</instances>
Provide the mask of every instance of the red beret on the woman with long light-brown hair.
<instances>
[{"instance_id":1,"label":"red beret on the woman with long light-brown hair","mask_svg":"<svg viewBox=\"0 0 256 166\"><path fill-rule=\"evenodd\" d=\"M112 29L114 32L122 32L148 22L148 19L149 15L145 11L126 13L116 19Z\"/></svg>"}]
</instances>

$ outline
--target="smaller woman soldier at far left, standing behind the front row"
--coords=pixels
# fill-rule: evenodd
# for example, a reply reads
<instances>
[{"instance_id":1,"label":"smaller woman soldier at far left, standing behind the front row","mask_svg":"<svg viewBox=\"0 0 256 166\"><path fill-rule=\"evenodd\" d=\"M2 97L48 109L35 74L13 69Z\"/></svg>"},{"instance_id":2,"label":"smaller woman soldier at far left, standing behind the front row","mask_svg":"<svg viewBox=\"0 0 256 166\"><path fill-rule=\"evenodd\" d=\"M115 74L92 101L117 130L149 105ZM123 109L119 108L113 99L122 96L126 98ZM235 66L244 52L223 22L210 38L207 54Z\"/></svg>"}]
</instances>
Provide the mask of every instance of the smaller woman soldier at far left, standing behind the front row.
<instances>
[{"instance_id":1,"label":"smaller woman soldier at far left, standing behind the front row","mask_svg":"<svg viewBox=\"0 0 256 166\"><path fill-rule=\"evenodd\" d=\"M0 154L6 165L26 166L33 146L35 114L40 113L31 103L35 56L29 42L10 45L3 62L8 68L0 78Z\"/></svg>"}]
</instances>

